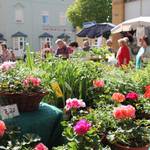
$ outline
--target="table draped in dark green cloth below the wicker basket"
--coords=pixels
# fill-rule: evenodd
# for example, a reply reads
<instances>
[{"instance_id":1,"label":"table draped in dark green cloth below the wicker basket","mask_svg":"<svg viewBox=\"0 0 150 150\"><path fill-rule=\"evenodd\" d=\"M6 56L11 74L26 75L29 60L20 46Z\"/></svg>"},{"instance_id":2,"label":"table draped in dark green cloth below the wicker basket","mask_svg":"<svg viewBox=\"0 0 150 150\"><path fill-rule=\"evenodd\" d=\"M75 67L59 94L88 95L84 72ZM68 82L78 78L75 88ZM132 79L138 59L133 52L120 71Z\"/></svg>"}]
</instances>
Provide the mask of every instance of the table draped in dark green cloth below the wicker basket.
<instances>
[{"instance_id":1,"label":"table draped in dark green cloth below the wicker basket","mask_svg":"<svg viewBox=\"0 0 150 150\"><path fill-rule=\"evenodd\" d=\"M13 119L7 119L6 124L21 128L21 134L34 133L42 138L42 142L51 147L57 145L61 138L63 113L61 110L46 103L41 103L36 112L21 113Z\"/></svg>"}]
</instances>

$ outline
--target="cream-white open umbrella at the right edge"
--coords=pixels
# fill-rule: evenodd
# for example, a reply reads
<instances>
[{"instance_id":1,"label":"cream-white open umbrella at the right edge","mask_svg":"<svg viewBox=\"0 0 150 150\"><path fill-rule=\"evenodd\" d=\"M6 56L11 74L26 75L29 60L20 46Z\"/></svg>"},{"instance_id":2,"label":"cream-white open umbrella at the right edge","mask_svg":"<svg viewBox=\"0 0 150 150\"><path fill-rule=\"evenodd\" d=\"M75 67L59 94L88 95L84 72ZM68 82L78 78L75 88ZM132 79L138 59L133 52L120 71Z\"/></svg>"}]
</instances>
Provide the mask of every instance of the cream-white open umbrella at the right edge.
<instances>
[{"instance_id":1,"label":"cream-white open umbrella at the right edge","mask_svg":"<svg viewBox=\"0 0 150 150\"><path fill-rule=\"evenodd\" d=\"M115 34L119 32L126 32L136 30L138 27L149 27L149 26L150 26L150 17L138 17L120 23L111 30L111 33Z\"/></svg>"}]
</instances>

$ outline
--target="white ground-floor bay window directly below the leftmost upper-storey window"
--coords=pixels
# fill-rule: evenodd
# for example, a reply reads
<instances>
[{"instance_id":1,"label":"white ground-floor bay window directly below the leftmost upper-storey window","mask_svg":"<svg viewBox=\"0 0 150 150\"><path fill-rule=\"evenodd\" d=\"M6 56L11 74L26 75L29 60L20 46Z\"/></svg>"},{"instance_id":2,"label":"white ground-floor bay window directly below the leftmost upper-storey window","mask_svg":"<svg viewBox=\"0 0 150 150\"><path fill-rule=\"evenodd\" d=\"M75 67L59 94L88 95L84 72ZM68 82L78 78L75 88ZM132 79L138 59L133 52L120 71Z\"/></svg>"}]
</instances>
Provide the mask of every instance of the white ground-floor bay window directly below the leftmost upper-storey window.
<instances>
[{"instance_id":1,"label":"white ground-floor bay window directly below the leftmost upper-storey window","mask_svg":"<svg viewBox=\"0 0 150 150\"><path fill-rule=\"evenodd\" d=\"M13 49L14 50L24 50L26 39L24 37L14 37L13 38Z\"/></svg>"}]
</instances>

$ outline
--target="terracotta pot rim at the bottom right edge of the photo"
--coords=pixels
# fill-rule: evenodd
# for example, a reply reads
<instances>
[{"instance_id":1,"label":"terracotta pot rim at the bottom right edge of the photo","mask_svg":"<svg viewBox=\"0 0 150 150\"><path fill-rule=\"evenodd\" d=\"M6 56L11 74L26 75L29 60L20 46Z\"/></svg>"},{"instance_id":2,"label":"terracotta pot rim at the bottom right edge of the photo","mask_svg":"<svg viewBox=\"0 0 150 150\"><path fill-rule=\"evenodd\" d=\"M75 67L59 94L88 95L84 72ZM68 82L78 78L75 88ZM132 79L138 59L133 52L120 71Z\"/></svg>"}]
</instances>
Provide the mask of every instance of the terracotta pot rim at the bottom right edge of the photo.
<instances>
[{"instance_id":1,"label":"terracotta pot rim at the bottom right edge of the photo","mask_svg":"<svg viewBox=\"0 0 150 150\"><path fill-rule=\"evenodd\" d=\"M122 146L120 144L115 144L114 145L116 150L149 150L149 146L145 147L128 147L128 146Z\"/></svg>"}]
</instances>

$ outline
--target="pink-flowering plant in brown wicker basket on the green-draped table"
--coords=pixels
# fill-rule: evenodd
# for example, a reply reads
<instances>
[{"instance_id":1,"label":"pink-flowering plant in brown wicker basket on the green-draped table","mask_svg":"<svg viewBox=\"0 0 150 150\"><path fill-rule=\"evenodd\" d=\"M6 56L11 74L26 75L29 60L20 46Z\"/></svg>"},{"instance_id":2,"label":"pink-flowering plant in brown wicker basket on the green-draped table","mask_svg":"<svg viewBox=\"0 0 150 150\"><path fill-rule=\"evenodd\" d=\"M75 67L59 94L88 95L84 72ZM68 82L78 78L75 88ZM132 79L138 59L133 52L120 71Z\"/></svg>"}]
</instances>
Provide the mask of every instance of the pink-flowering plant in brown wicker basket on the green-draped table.
<instances>
[{"instance_id":1,"label":"pink-flowering plant in brown wicker basket on the green-draped table","mask_svg":"<svg viewBox=\"0 0 150 150\"><path fill-rule=\"evenodd\" d=\"M26 65L5 62L0 66L0 104L17 104L20 112L35 111L47 94L42 80Z\"/></svg>"}]
</instances>

